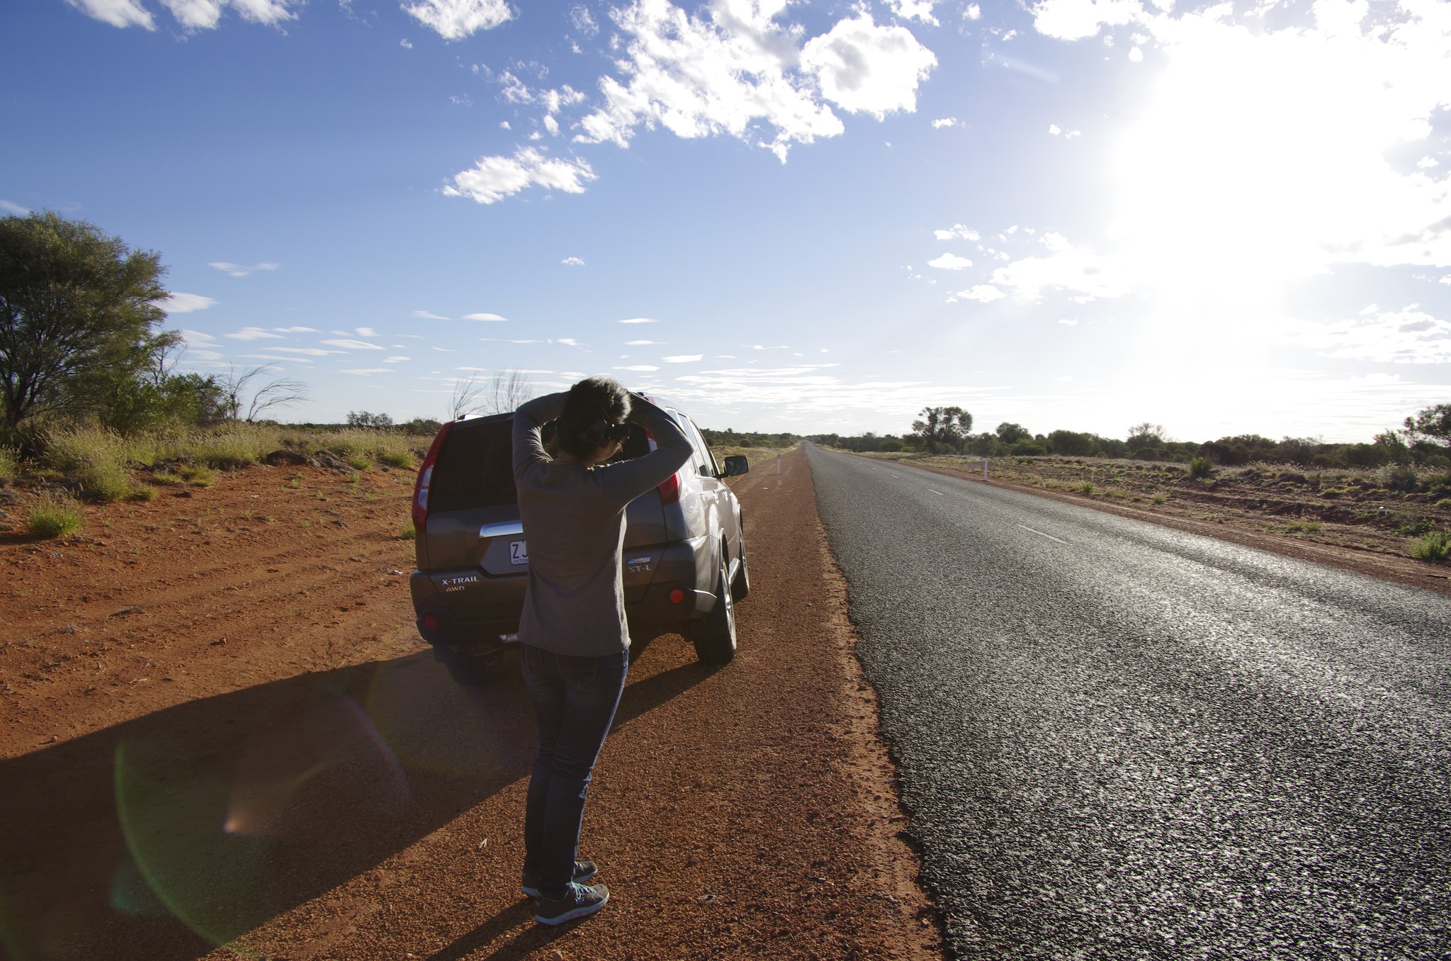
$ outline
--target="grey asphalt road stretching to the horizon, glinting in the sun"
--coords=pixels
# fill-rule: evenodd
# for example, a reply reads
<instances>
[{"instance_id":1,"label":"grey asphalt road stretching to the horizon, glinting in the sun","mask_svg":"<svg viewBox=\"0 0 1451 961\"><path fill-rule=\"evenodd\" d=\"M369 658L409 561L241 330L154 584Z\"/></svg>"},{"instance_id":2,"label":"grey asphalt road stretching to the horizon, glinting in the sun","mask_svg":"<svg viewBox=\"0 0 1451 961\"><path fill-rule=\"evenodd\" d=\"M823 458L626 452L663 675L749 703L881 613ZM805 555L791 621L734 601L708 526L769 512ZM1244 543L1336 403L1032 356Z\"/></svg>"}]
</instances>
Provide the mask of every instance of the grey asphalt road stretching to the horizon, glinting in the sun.
<instances>
[{"instance_id":1,"label":"grey asphalt road stretching to the horizon, glinting in the sun","mask_svg":"<svg viewBox=\"0 0 1451 961\"><path fill-rule=\"evenodd\" d=\"M1451 600L808 456L953 957L1451 958Z\"/></svg>"}]
</instances>

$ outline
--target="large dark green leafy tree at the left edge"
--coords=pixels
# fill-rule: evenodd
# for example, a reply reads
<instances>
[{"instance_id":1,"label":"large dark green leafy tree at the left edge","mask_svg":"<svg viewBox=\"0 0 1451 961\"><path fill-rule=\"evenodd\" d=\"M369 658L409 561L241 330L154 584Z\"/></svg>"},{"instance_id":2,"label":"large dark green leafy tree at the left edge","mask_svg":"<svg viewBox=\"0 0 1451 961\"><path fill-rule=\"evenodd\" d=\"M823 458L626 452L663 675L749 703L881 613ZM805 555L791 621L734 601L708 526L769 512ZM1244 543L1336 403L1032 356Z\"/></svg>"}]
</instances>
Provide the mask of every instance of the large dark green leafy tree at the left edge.
<instances>
[{"instance_id":1,"label":"large dark green leafy tree at the left edge","mask_svg":"<svg viewBox=\"0 0 1451 961\"><path fill-rule=\"evenodd\" d=\"M0 425L64 409L155 337L165 267L86 221L0 218ZM142 350L142 353L145 353Z\"/></svg>"}]
</instances>

